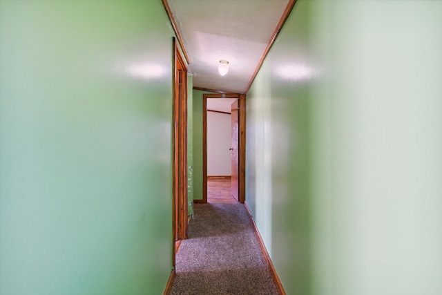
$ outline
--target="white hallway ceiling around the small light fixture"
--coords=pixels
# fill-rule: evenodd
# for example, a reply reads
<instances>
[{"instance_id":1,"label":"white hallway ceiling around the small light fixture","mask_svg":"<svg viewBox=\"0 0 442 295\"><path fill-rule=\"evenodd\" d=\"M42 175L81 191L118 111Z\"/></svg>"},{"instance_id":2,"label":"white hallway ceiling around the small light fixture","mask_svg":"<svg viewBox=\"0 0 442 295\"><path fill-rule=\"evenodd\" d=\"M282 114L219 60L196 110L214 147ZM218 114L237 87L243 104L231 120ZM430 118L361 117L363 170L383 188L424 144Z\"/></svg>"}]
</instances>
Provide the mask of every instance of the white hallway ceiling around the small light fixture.
<instances>
[{"instance_id":1,"label":"white hallway ceiling around the small light fixture","mask_svg":"<svg viewBox=\"0 0 442 295\"><path fill-rule=\"evenodd\" d=\"M193 86L245 93L289 0L167 0ZM220 59L229 73L218 73Z\"/></svg>"}]
</instances>

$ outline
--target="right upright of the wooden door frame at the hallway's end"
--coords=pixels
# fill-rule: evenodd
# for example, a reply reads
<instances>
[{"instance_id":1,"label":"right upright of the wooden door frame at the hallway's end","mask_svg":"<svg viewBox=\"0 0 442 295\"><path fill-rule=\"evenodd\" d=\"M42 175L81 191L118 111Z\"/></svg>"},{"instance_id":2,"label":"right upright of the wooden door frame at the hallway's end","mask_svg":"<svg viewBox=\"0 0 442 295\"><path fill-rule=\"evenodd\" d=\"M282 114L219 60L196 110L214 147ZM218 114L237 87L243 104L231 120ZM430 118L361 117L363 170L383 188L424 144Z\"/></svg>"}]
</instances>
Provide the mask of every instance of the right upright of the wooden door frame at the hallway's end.
<instances>
[{"instance_id":1,"label":"right upright of the wooden door frame at the hallway's end","mask_svg":"<svg viewBox=\"0 0 442 295\"><path fill-rule=\"evenodd\" d=\"M246 97L240 95L238 99L240 134L238 135L239 160L238 160L238 184L239 201L244 204L246 200Z\"/></svg>"}]
</instances>

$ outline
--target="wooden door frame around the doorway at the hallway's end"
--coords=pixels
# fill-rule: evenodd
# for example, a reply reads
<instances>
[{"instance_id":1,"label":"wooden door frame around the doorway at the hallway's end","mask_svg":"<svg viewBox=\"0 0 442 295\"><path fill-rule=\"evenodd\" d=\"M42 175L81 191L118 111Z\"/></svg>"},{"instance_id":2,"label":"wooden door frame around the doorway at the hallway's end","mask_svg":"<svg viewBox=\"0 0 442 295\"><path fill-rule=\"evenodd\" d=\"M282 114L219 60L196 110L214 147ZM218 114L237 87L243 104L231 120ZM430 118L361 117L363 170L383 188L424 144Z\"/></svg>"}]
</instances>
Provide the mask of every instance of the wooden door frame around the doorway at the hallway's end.
<instances>
[{"instance_id":1,"label":"wooden door frame around the doorway at the hallway's end","mask_svg":"<svg viewBox=\"0 0 442 295\"><path fill-rule=\"evenodd\" d=\"M209 98L236 98L238 99L238 197L244 204L246 200L245 175L246 175L246 99L245 95L238 93L203 94L202 95L202 203L207 202L207 99Z\"/></svg>"}]
</instances>

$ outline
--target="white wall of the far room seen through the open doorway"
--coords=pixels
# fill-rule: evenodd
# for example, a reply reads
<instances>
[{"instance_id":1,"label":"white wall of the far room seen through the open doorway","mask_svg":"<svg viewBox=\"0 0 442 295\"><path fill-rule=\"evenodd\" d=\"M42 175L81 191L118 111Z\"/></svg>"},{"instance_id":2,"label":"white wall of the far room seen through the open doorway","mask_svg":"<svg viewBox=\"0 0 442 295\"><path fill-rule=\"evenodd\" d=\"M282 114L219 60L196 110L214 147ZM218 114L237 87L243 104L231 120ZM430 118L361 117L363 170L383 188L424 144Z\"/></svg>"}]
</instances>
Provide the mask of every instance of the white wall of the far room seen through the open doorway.
<instances>
[{"instance_id":1,"label":"white wall of the far room seen through the open doorway","mask_svg":"<svg viewBox=\"0 0 442 295\"><path fill-rule=\"evenodd\" d=\"M207 112L207 175L231 175L231 115Z\"/></svg>"}]
</instances>

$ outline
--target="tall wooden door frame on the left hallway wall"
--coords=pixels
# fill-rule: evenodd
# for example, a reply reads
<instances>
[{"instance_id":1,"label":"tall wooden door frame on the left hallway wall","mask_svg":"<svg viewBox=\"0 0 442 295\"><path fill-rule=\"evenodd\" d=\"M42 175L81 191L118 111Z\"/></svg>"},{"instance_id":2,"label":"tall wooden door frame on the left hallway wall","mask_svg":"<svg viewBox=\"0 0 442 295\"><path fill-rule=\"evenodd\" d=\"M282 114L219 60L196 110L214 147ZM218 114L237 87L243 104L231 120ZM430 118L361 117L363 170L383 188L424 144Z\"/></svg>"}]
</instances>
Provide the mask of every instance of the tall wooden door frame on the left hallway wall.
<instances>
[{"instance_id":1,"label":"tall wooden door frame on the left hallway wall","mask_svg":"<svg viewBox=\"0 0 442 295\"><path fill-rule=\"evenodd\" d=\"M180 84L180 75L182 81ZM187 66L173 38L173 266L175 242L187 238Z\"/></svg>"}]
</instances>

